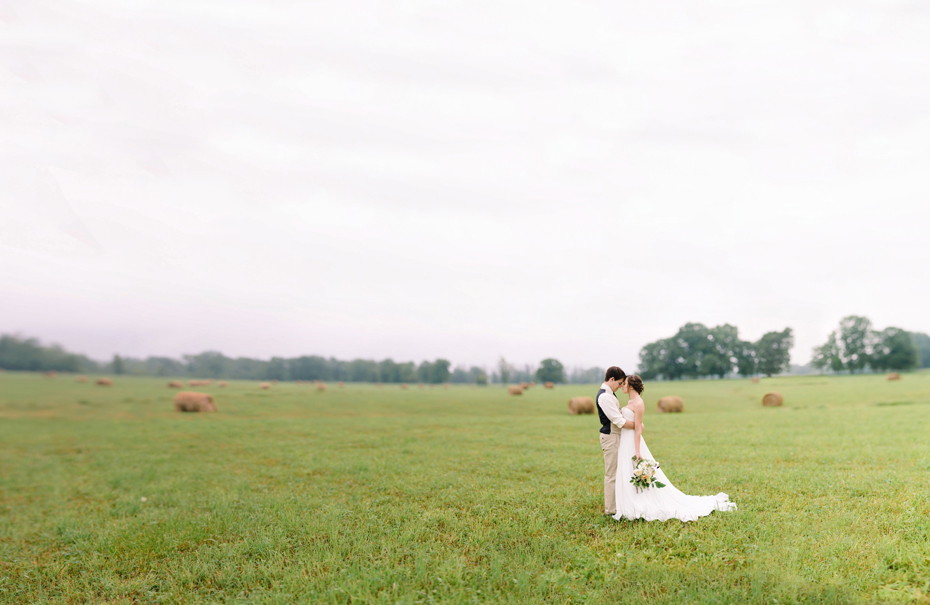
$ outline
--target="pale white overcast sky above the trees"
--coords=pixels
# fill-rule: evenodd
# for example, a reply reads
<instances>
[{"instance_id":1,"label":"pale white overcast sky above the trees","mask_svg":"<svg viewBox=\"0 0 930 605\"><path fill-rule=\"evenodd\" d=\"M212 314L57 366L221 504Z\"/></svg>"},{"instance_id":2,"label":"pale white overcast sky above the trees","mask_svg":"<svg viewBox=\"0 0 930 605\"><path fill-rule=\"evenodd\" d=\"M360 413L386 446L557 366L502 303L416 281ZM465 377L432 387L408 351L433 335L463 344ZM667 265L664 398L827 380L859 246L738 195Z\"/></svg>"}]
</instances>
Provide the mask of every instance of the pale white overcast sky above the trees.
<instances>
[{"instance_id":1,"label":"pale white overcast sky above the trees","mask_svg":"<svg viewBox=\"0 0 930 605\"><path fill-rule=\"evenodd\" d=\"M0 332L635 366L930 331L930 5L0 0Z\"/></svg>"}]
</instances>

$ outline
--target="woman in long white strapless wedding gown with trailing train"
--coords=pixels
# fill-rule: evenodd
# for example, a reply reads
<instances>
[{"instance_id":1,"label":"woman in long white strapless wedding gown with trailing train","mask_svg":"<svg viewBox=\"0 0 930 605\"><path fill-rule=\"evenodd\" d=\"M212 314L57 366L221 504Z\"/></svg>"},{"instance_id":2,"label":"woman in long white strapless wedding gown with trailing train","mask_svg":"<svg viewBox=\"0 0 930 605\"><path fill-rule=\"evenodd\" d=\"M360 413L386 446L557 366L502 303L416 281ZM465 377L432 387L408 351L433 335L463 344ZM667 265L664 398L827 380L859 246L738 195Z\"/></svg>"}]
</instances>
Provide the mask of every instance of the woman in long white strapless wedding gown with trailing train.
<instances>
[{"instance_id":1,"label":"woman in long white strapless wedding gown with trailing train","mask_svg":"<svg viewBox=\"0 0 930 605\"><path fill-rule=\"evenodd\" d=\"M656 471L656 479L665 487L647 487L639 492L630 483L633 477L633 456L655 460L642 438L643 413L646 406L642 395L643 379L639 376L627 376L620 386L630 396L620 413L634 423L635 428L620 431L620 447L617 453L617 514L614 519L645 519L646 521L694 521L709 515L715 510L736 510L736 504L729 497L720 493L716 496L689 496L676 489L668 480L662 469Z\"/></svg>"}]
</instances>

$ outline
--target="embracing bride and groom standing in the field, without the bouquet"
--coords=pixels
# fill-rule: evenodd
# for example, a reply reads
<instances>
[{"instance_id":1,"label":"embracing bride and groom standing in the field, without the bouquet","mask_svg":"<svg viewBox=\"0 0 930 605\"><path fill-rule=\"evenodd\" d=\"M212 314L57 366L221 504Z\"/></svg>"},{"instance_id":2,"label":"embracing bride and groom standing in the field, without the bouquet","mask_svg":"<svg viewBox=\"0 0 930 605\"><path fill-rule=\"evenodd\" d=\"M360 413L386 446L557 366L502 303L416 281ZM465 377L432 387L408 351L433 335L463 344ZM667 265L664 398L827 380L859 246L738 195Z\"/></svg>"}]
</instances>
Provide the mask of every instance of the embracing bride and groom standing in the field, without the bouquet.
<instances>
[{"instance_id":1,"label":"embracing bride and groom standing in the field, without the bouquet","mask_svg":"<svg viewBox=\"0 0 930 605\"><path fill-rule=\"evenodd\" d=\"M615 393L620 390L629 402L620 407ZM604 513L620 519L694 521L715 510L736 510L736 504L720 493L716 496L689 496L675 488L658 469L655 479L664 487L639 489L630 482L636 459L654 460L642 438L643 380L627 376L617 366L607 369L604 384L597 392L597 414L601 420L601 449L604 452Z\"/></svg>"}]
</instances>

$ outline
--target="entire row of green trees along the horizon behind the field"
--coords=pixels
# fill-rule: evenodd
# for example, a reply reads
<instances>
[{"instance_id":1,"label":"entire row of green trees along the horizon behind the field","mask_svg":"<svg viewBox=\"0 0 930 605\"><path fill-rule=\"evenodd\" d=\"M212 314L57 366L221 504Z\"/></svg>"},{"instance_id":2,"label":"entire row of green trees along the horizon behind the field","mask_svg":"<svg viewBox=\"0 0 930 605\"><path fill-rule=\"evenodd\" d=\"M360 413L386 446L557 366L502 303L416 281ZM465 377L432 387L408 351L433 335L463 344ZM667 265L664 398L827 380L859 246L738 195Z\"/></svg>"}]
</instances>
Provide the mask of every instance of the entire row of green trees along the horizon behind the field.
<instances>
[{"instance_id":1,"label":"entire row of green trees along the horizon behind the field","mask_svg":"<svg viewBox=\"0 0 930 605\"><path fill-rule=\"evenodd\" d=\"M785 372L790 367L789 349L794 343L791 328L768 332L756 342L739 338L729 324L708 328L688 323L670 337L647 344L639 354L639 373L646 379L675 380L703 376L724 377ZM815 348L812 365L832 372L907 370L930 367L930 336L901 328L875 330L865 317L843 318L827 342ZM445 382L488 384L519 382L597 383L604 369L566 369L554 358L538 366L516 367L503 357L488 374L478 366L457 366L447 359L422 363L355 359L343 361L318 355L270 360L232 358L216 351L184 355L181 359L115 355L97 362L58 345L43 345L35 338L0 335L0 369L75 373L105 372L142 376L190 376L241 380L324 380L440 384Z\"/></svg>"}]
</instances>

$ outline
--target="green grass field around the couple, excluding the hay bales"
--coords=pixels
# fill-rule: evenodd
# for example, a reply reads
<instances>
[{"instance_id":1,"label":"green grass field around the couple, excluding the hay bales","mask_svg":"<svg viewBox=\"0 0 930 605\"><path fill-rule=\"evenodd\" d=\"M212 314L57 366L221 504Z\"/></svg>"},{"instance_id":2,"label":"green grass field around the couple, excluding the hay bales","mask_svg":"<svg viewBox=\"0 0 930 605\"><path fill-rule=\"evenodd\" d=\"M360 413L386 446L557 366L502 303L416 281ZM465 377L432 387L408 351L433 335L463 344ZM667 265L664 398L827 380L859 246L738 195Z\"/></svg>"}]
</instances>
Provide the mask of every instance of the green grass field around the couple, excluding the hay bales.
<instances>
[{"instance_id":1,"label":"green grass field around the couple, excluding the hay bales","mask_svg":"<svg viewBox=\"0 0 930 605\"><path fill-rule=\"evenodd\" d=\"M0 603L930 602L930 373L647 383L690 524L601 514L596 389L0 374Z\"/></svg>"}]
</instances>

